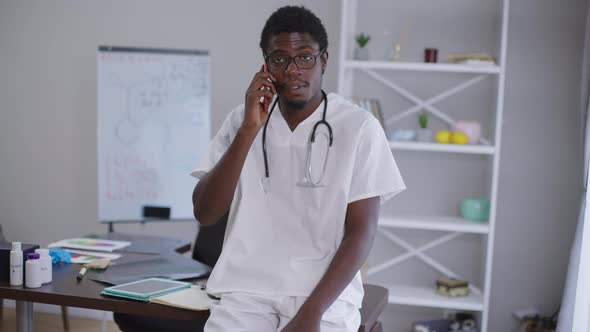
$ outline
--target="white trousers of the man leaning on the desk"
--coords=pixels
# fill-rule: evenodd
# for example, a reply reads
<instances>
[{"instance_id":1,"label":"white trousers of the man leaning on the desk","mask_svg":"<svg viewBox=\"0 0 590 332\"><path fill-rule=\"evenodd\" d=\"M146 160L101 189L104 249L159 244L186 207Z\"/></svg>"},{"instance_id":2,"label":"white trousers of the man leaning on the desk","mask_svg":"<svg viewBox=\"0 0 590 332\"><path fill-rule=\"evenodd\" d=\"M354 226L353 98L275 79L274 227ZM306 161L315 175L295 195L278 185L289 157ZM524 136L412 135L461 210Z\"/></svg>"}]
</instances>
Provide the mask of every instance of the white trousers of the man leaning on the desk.
<instances>
[{"instance_id":1,"label":"white trousers of the man leaning on the desk","mask_svg":"<svg viewBox=\"0 0 590 332\"><path fill-rule=\"evenodd\" d=\"M295 316L306 297L223 294L211 307L204 332L280 332ZM321 332L357 332L361 323L359 309L336 300L324 313Z\"/></svg>"}]
</instances>

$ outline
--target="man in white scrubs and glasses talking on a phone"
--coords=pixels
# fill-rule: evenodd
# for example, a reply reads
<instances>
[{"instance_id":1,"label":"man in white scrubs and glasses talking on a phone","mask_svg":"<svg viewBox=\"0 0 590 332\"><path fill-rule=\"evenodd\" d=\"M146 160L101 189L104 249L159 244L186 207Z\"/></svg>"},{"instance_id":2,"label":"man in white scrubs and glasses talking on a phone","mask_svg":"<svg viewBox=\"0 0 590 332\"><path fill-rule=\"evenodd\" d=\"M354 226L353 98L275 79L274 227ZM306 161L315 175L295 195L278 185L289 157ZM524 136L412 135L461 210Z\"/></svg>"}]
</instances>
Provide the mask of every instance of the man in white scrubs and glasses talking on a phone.
<instances>
[{"instance_id":1,"label":"man in white scrubs and glasses talking on a phone","mask_svg":"<svg viewBox=\"0 0 590 332\"><path fill-rule=\"evenodd\" d=\"M378 121L323 92L319 18L280 8L260 47L268 72L254 75L192 173L199 223L228 214L207 283L221 300L205 332L357 331L359 269L380 201L405 189L403 180Z\"/></svg>"}]
</instances>

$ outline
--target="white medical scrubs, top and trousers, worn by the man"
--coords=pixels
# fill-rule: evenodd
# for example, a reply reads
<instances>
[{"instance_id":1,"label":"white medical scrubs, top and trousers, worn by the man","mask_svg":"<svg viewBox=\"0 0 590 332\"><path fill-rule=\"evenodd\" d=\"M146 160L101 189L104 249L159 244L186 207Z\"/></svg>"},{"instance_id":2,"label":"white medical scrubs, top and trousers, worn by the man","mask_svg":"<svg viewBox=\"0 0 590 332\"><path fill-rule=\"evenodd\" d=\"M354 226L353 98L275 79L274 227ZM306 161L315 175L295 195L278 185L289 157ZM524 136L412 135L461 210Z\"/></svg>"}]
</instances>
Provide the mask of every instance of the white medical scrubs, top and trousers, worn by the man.
<instances>
[{"instance_id":1,"label":"white medical scrubs, top and trousers, worn by the man","mask_svg":"<svg viewBox=\"0 0 590 332\"><path fill-rule=\"evenodd\" d=\"M228 307L232 303L234 307L242 307L235 303L253 301L252 298L236 299L236 294L274 301L269 307L275 309L281 307L281 303L291 301L293 308L290 313L275 312L278 317L276 322L271 319L272 316L269 318L269 326L277 324L274 330L292 318L283 316L297 312L298 306L326 272L344 236L348 204L376 196L381 197L383 202L405 189L377 119L334 93L328 95L326 114L334 140L329 149L322 186L306 185L309 182L306 161L310 135L313 126L321 120L323 110L322 102L291 131L277 104L266 132L270 170L267 190L263 185L261 129L244 163L230 207L223 250L207 283L209 291L222 294L221 307L224 297ZM199 178L215 166L233 141L243 117L243 105L230 113L211 141L207 158L192 172L193 176ZM322 174L327 141L326 127L318 126L311 155L314 181ZM334 308L356 312L352 315L351 324L356 324L357 329L362 297L361 277L357 273L333 305ZM216 317L216 310L212 309L211 318ZM350 313L332 314L340 317L336 320L350 316ZM229 327L231 321L239 321L235 320L234 313L219 311L217 316L220 324L226 324L221 327L234 331ZM265 331L262 325L259 328L246 330ZM354 328L345 326L333 331L356 331ZM209 330L217 331L212 327ZM331 330L322 324L322 331Z\"/></svg>"}]
</instances>

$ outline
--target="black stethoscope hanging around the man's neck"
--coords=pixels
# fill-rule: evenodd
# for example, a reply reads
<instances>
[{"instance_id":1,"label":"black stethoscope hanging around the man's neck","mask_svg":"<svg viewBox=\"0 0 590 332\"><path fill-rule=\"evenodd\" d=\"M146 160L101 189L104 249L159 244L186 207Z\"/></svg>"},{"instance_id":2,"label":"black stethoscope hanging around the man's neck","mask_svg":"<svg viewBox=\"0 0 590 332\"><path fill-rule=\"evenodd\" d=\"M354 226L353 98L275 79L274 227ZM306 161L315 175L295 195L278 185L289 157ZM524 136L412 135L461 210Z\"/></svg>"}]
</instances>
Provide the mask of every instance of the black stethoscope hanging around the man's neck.
<instances>
[{"instance_id":1,"label":"black stethoscope hanging around the man's neck","mask_svg":"<svg viewBox=\"0 0 590 332\"><path fill-rule=\"evenodd\" d=\"M313 188L323 186L322 180L324 179L324 176L326 175L326 166L328 165L328 156L330 155L330 147L332 147L332 142L334 141L334 136L332 134L332 127L330 126L328 121L326 121L326 111L328 109L328 97L326 96L326 93L324 92L324 90L322 90L322 98L323 98L323 102L324 102L324 112L322 114L322 119L314 124L313 129L311 131L311 137L309 139L309 144L307 147L307 162L306 162L306 166L305 166L305 168L307 169L307 180L304 179L305 185L313 187ZM274 103L272 104L272 107L270 108L270 112L268 113L268 118L266 119L266 123L264 123L264 129L262 130L262 155L264 156L264 175L265 175L265 178L263 179L263 188L264 188L265 192L268 192L268 190L269 190L269 176L270 176L270 171L268 168L268 157L267 157L267 153L266 153L266 127L268 127L268 122L270 120L270 116L272 115L272 112L274 111L275 107L277 106L278 101L279 101L279 98L277 97L275 99ZM312 174L311 153L312 153L313 143L315 142L316 130L320 125L324 125L324 126L326 126L326 128L328 128L328 135L329 135L329 143L330 144L328 145L328 149L326 151L326 158L324 160L324 167L322 169L322 173L319 177L319 180L314 181L311 176L311 174Z\"/></svg>"}]
</instances>

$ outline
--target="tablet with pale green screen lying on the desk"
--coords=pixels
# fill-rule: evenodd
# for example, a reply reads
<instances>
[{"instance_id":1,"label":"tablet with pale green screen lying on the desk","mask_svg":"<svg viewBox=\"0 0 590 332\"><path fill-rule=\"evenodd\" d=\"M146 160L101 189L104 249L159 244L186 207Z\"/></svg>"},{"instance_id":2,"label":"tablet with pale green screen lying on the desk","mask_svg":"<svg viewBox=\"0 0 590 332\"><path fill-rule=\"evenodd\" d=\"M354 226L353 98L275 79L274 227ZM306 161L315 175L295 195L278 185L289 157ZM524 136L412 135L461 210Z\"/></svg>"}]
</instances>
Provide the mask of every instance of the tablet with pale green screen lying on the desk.
<instances>
[{"instance_id":1,"label":"tablet with pale green screen lying on the desk","mask_svg":"<svg viewBox=\"0 0 590 332\"><path fill-rule=\"evenodd\" d=\"M147 301L153 297L172 293L184 288L189 288L190 286L191 284L188 282L161 278L148 278L117 286L107 287L102 291L102 293L105 295Z\"/></svg>"}]
</instances>

